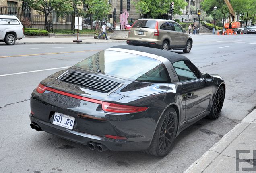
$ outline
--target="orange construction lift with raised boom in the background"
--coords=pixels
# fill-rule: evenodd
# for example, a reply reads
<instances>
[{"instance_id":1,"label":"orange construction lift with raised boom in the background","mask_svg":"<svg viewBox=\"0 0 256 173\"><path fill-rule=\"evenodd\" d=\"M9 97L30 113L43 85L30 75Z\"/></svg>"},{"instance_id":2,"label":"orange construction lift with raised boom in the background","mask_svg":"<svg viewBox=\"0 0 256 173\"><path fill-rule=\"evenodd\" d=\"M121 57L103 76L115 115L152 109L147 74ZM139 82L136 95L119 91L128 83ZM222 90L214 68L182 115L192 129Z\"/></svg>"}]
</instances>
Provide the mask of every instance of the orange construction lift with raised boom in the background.
<instances>
[{"instance_id":1,"label":"orange construction lift with raised boom in the background","mask_svg":"<svg viewBox=\"0 0 256 173\"><path fill-rule=\"evenodd\" d=\"M236 34L238 28L241 27L241 24L240 24L240 22L235 21L235 12L234 12L229 0L224 0L224 1L227 5L227 8L229 8L230 17L232 18L232 20L231 20L231 18L229 19L229 21L230 21L229 23L226 23L224 25L224 28L225 28L224 34L229 34L229 33Z\"/></svg>"}]
</instances>

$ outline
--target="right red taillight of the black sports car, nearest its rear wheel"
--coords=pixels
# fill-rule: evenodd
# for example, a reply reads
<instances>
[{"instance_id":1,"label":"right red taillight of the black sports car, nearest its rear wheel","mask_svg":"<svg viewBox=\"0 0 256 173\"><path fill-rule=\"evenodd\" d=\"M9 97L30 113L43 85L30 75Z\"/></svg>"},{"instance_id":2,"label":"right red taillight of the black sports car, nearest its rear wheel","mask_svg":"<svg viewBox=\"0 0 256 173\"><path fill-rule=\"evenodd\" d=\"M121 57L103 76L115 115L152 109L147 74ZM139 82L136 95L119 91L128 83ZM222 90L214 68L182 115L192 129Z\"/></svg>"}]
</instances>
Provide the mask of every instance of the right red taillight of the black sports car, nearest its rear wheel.
<instances>
[{"instance_id":1,"label":"right red taillight of the black sports car, nearest its rear wheel","mask_svg":"<svg viewBox=\"0 0 256 173\"><path fill-rule=\"evenodd\" d=\"M148 108L102 102L102 109L104 111L113 112L113 113L136 113L136 112L146 111Z\"/></svg>"}]
</instances>

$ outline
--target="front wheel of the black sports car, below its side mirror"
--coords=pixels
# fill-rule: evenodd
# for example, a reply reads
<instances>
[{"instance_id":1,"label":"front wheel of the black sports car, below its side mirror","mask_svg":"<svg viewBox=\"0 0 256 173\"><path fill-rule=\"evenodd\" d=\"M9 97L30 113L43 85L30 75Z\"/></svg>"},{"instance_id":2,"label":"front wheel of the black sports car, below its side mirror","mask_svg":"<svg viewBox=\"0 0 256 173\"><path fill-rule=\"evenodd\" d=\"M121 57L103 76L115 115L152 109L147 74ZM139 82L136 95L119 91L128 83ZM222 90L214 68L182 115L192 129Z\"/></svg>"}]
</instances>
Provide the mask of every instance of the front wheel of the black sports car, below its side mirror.
<instances>
[{"instance_id":1,"label":"front wheel of the black sports car, below its side mirror","mask_svg":"<svg viewBox=\"0 0 256 173\"><path fill-rule=\"evenodd\" d=\"M225 97L225 91L224 88L221 86L218 91L215 93L215 97L213 100L213 105L210 111L210 114L207 116L209 119L217 119L219 118L219 115L221 113L221 109L223 106Z\"/></svg>"}]
</instances>

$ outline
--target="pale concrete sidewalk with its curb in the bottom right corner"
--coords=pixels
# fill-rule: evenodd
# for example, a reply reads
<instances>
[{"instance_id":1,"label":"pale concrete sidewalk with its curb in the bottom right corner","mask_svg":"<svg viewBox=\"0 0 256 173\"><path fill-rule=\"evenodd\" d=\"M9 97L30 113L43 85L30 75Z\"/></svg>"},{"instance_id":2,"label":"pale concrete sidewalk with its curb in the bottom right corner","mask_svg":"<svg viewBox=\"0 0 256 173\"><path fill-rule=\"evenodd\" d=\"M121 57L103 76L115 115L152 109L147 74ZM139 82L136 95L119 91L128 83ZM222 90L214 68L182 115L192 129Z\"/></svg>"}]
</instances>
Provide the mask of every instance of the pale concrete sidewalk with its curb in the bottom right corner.
<instances>
[{"instance_id":1,"label":"pale concrete sidewalk with its curb in the bottom right corner","mask_svg":"<svg viewBox=\"0 0 256 173\"><path fill-rule=\"evenodd\" d=\"M256 109L184 173L256 173Z\"/></svg>"}]
</instances>

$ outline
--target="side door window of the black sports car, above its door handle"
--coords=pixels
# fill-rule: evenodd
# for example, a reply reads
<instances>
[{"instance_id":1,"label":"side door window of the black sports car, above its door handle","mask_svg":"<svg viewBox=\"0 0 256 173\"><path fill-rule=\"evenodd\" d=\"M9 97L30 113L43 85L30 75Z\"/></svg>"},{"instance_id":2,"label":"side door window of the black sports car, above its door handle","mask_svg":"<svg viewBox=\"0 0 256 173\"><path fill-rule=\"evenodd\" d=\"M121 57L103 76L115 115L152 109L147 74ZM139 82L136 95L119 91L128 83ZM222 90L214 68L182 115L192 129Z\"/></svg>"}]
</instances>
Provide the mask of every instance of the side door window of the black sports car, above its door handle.
<instances>
[{"instance_id":1,"label":"side door window of the black sports car, above its door handle","mask_svg":"<svg viewBox=\"0 0 256 173\"><path fill-rule=\"evenodd\" d=\"M197 68L189 61L182 60L172 64L180 82L195 80L201 77Z\"/></svg>"}]
</instances>

